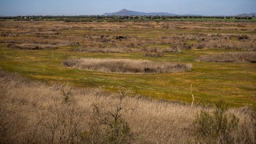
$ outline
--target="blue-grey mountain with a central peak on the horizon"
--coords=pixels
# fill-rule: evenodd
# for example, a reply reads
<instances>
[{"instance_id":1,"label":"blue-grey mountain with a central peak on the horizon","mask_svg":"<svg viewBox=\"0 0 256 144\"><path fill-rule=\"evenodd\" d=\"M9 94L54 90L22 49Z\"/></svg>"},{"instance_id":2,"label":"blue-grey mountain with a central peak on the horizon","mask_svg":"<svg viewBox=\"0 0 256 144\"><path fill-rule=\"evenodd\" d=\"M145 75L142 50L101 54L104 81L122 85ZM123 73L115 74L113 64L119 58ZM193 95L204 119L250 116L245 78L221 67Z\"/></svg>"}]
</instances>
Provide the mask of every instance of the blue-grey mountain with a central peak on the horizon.
<instances>
[{"instance_id":1,"label":"blue-grey mountain with a central peak on the horizon","mask_svg":"<svg viewBox=\"0 0 256 144\"><path fill-rule=\"evenodd\" d=\"M120 16L142 16L142 15L168 15L168 16L173 16L177 14L169 14L167 12L136 12L136 11L128 11L127 9L122 9L121 11L118 12L113 12L113 13L105 13L103 15L120 15Z\"/></svg>"}]
</instances>

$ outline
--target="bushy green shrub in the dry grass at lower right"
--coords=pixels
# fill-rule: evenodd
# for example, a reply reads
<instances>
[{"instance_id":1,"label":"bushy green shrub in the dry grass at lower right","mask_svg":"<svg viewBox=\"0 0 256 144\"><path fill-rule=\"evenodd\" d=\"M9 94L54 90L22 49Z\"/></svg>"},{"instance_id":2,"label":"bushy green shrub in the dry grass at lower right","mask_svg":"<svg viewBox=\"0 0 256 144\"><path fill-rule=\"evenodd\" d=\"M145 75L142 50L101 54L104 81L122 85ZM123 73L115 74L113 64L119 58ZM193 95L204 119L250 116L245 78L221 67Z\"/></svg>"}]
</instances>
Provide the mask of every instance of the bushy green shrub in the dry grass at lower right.
<instances>
[{"instance_id":1,"label":"bushy green shrub in the dry grass at lower right","mask_svg":"<svg viewBox=\"0 0 256 144\"><path fill-rule=\"evenodd\" d=\"M192 124L199 143L234 143L234 132L239 119L227 114L223 103L217 103L213 112L201 111Z\"/></svg>"}]
</instances>

